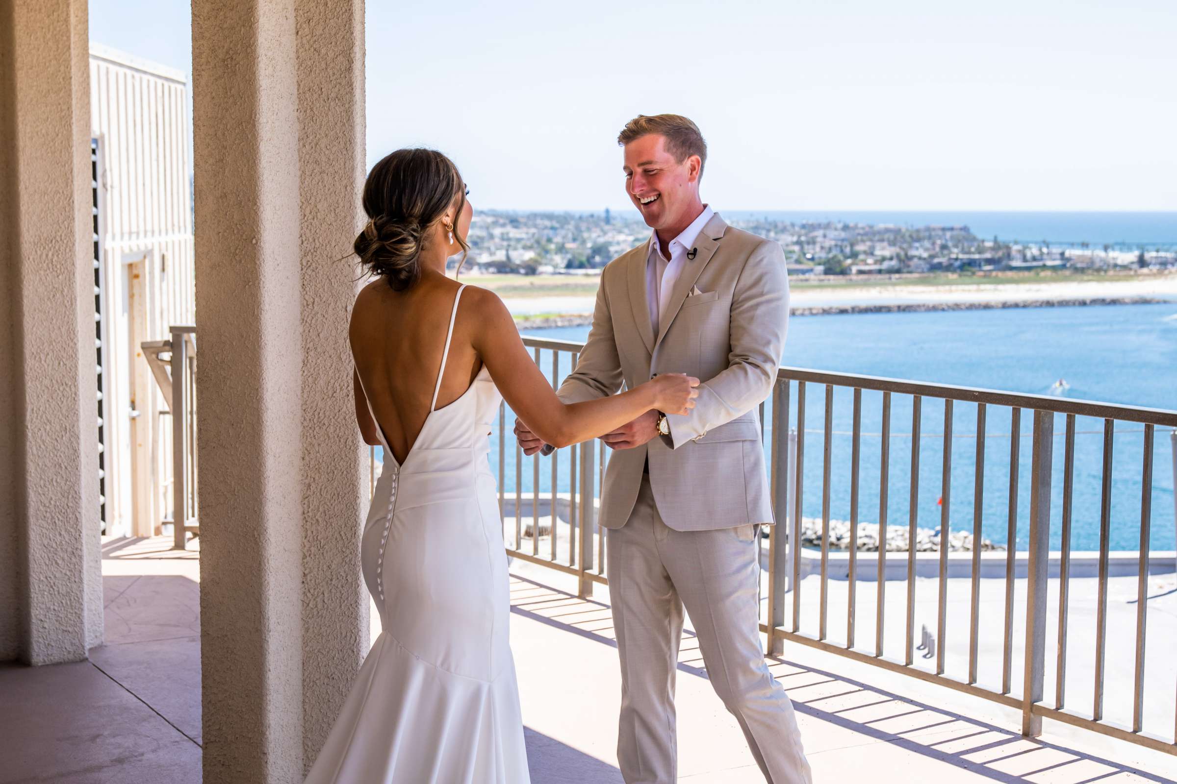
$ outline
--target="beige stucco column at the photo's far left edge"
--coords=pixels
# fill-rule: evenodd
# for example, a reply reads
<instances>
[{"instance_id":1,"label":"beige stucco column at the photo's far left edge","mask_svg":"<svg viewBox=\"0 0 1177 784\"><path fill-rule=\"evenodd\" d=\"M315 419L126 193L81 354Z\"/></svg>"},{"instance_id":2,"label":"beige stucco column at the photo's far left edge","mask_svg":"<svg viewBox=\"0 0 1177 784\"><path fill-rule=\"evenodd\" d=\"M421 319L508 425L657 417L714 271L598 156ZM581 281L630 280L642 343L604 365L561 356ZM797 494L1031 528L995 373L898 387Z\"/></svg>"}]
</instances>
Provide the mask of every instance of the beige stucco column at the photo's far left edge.
<instances>
[{"instance_id":1,"label":"beige stucco column at the photo's far left edge","mask_svg":"<svg viewBox=\"0 0 1177 784\"><path fill-rule=\"evenodd\" d=\"M84 0L0 4L0 659L102 641Z\"/></svg>"}]
</instances>

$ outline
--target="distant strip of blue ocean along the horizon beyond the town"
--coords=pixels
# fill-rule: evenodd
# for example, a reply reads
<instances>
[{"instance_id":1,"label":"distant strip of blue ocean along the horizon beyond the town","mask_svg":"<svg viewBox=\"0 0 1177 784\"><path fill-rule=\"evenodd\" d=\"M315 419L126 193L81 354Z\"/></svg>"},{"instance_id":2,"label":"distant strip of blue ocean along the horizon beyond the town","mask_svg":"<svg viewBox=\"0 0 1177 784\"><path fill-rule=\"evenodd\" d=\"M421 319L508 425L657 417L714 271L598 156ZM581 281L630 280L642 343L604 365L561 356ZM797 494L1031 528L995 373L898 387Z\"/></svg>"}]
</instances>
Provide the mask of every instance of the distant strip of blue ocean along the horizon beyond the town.
<instances>
[{"instance_id":1,"label":"distant strip of blue ocean along the horizon beyond the town","mask_svg":"<svg viewBox=\"0 0 1177 784\"><path fill-rule=\"evenodd\" d=\"M885 210L722 210L732 220L845 221L896 226L967 226L983 240L1042 242L1093 248L1177 247L1177 212L1153 213L1003 213Z\"/></svg>"}]
</instances>

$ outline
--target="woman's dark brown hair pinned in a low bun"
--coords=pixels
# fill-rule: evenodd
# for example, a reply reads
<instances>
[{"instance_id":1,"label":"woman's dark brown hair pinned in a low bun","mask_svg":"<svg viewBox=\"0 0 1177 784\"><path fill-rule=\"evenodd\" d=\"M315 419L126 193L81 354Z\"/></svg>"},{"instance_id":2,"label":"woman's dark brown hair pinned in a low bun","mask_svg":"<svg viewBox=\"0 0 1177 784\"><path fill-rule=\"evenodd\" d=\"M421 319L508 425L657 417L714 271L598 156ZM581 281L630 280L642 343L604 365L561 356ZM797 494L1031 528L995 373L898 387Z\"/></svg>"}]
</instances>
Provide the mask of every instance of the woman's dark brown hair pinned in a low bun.
<instances>
[{"instance_id":1,"label":"woman's dark brown hair pinned in a low bun","mask_svg":"<svg viewBox=\"0 0 1177 784\"><path fill-rule=\"evenodd\" d=\"M435 149L405 148L372 167L364 183L368 222L355 237L360 266L403 292L421 276L425 236L457 205L454 222L466 205L466 188L458 167ZM453 232L463 260L470 246Z\"/></svg>"}]
</instances>

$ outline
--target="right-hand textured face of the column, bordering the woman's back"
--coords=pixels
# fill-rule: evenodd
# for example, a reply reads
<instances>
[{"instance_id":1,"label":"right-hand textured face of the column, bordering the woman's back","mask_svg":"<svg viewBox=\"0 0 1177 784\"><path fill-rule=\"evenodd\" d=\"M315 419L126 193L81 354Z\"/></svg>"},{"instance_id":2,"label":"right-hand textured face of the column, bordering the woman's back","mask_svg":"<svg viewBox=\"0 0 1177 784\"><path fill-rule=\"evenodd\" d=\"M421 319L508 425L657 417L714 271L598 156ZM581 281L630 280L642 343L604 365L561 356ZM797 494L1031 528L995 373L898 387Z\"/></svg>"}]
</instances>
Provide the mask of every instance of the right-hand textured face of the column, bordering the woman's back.
<instances>
[{"instance_id":1,"label":"right-hand textured face of the column, bordering the woman's back","mask_svg":"<svg viewBox=\"0 0 1177 784\"><path fill-rule=\"evenodd\" d=\"M302 261L302 737L310 768L368 652L360 576L367 449L347 323L364 183L364 2L298 0Z\"/></svg>"}]
</instances>

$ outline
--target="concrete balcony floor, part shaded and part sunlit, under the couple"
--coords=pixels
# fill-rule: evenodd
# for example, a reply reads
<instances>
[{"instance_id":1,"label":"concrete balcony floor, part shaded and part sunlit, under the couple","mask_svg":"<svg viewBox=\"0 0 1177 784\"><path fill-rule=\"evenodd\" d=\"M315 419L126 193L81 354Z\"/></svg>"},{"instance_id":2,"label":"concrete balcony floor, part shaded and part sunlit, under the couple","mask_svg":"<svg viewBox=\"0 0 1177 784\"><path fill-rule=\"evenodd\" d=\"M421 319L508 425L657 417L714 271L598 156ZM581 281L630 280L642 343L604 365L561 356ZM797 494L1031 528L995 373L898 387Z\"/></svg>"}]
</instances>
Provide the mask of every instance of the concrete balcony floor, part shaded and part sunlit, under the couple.
<instances>
[{"instance_id":1,"label":"concrete balcony floor, part shaded and part sunlit, under the couple","mask_svg":"<svg viewBox=\"0 0 1177 784\"><path fill-rule=\"evenodd\" d=\"M164 538L104 543L106 644L91 661L0 666L0 783L200 782L199 554ZM512 564L512 646L534 784L621 782L607 590ZM787 644L770 658L816 782L1171 782L1177 757ZM760 783L687 629L678 677L681 782Z\"/></svg>"}]
</instances>

